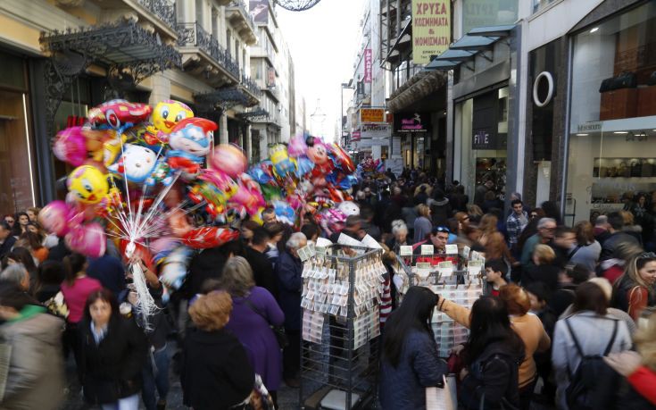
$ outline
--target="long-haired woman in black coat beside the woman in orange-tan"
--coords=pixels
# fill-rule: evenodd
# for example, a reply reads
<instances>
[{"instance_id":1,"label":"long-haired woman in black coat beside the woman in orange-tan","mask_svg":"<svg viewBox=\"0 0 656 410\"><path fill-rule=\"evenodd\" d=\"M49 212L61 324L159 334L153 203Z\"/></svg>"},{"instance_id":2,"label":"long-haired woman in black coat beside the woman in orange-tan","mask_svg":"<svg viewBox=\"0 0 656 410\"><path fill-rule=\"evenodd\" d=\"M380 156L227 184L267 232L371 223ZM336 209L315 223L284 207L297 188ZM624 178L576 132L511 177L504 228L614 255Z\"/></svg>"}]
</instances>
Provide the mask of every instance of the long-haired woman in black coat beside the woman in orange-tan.
<instances>
[{"instance_id":1,"label":"long-haired woman in black coat beside the woman in orange-tan","mask_svg":"<svg viewBox=\"0 0 656 410\"><path fill-rule=\"evenodd\" d=\"M466 409L519 408L519 364L524 342L512 330L505 302L481 297L471 308L469 340L461 372Z\"/></svg>"}]
</instances>

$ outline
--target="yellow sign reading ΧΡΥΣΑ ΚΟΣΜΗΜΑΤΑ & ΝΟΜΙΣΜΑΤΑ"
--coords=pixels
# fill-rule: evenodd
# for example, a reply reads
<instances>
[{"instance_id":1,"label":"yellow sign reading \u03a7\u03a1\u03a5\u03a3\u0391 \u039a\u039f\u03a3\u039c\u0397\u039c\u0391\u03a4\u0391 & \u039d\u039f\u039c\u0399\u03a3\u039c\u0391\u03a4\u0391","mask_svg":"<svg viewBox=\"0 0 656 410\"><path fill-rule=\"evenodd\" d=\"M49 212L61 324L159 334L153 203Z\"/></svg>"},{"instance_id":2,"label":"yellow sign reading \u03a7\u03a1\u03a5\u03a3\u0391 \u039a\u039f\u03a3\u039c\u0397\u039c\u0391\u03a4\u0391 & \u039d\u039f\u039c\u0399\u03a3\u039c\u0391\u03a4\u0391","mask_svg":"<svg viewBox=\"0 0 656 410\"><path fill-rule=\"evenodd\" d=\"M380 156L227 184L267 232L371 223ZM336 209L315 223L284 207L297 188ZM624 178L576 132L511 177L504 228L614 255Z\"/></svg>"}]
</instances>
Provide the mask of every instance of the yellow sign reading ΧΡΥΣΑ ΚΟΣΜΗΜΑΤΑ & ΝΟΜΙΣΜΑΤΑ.
<instances>
[{"instance_id":1,"label":"yellow sign reading \u03a7\u03a1\u03a5\u03a3\u0391 \u039a\u039f\u03a3\u039c\u0397\u039c\u0391\u03a4\u0391 & \u039d\u039f\u039c\u0399\u03a3\u039c\u0391\u03a4\u0391","mask_svg":"<svg viewBox=\"0 0 656 410\"><path fill-rule=\"evenodd\" d=\"M412 0L412 60L428 64L451 44L451 0Z\"/></svg>"}]
</instances>

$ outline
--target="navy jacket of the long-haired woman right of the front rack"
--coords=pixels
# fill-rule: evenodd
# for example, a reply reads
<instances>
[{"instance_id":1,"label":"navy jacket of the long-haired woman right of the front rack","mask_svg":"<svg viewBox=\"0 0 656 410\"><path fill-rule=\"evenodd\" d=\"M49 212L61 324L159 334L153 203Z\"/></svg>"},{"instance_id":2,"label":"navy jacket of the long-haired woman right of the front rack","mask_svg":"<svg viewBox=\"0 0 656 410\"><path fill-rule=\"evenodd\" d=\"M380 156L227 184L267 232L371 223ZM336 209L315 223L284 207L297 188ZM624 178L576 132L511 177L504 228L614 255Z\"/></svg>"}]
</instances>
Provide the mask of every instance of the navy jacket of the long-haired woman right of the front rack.
<instances>
[{"instance_id":1,"label":"navy jacket of the long-haired woman right of the front rack","mask_svg":"<svg viewBox=\"0 0 656 410\"><path fill-rule=\"evenodd\" d=\"M437 356L435 340L425 331L412 330L405 337L399 366L382 359L379 385L383 410L426 408L426 388L443 382L448 368Z\"/></svg>"}]
</instances>

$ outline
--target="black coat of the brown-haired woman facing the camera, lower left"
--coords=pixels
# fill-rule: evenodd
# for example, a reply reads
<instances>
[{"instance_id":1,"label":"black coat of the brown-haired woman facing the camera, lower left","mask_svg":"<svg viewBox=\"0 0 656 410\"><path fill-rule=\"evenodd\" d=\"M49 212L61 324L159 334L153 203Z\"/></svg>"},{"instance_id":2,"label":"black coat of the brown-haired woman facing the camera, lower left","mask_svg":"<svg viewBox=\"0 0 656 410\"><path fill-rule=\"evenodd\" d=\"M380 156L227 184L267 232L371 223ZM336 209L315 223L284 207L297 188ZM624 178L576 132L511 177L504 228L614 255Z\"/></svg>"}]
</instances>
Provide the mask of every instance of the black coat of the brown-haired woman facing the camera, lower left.
<instances>
[{"instance_id":1,"label":"black coat of the brown-haired woman facing the camera, lower left","mask_svg":"<svg viewBox=\"0 0 656 410\"><path fill-rule=\"evenodd\" d=\"M137 394L148 349L145 334L133 319L112 317L104 339L96 344L91 326L87 320L79 323L79 370L87 401L109 404Z\"/></svg>"}]
</instances>

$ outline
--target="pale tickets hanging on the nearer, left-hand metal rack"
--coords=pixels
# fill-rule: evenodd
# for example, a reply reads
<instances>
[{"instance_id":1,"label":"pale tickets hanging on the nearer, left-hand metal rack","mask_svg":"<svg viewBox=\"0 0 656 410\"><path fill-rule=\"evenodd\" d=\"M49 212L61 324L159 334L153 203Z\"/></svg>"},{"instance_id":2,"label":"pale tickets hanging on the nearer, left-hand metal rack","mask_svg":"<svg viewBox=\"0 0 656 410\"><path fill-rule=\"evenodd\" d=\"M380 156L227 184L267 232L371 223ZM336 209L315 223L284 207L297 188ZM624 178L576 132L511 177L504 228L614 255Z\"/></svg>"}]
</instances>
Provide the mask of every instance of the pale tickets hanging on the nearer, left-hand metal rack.
<instances>
[{"instance_id":1,"label":"pale tickets hanging on the nearer, left-hand metal rack","mask_svg":"<svg viewBox=\"0 0 656 410\"><path fill-rule=\"evenodd\" d=\"M302 274L303 340L320 343L320 315L329 314L345 322L350 314L349 300L353 300L353 343L361 346L380 334L378 305L387 272L380 257L377 251L353 262L321 252L307 258ZM354 269L353 283L350 266Z\"/></svg>"}]
</instances>

